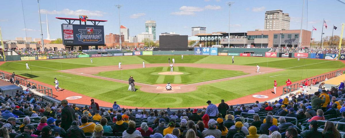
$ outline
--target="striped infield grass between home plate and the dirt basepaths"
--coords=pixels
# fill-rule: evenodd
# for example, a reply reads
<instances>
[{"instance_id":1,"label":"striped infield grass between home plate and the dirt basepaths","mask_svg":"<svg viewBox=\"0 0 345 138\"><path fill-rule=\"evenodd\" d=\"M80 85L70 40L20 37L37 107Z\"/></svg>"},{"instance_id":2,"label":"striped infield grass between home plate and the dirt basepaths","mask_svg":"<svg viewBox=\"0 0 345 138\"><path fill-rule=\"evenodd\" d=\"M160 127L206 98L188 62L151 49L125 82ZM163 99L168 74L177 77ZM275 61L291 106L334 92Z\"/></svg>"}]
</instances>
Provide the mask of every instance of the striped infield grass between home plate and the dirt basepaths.
<instances>
[{"instance_id":1,"label":"striped infield grass between home plate and the dirt basepaths","mask_svg":"<svg viewBox=\"0 0 345 138\"><path fill-rule=\"evenodd\" d=\"M235 77L246 75L243 71L235 70L221 70L221 69L206 69L193 67L174 67L174 71L183 72L181 75L159 75L159 72L170 71L169 67L152 67L140 68L131 70L117 70L105 71L96 74L97 76L128 80L129 76L133 76L136 82L145 84L191 84L197 82L204 82L209 80L216 80L222 78ZM125 78L127 77L127 78Z\"/></svg>"}]
</instances>

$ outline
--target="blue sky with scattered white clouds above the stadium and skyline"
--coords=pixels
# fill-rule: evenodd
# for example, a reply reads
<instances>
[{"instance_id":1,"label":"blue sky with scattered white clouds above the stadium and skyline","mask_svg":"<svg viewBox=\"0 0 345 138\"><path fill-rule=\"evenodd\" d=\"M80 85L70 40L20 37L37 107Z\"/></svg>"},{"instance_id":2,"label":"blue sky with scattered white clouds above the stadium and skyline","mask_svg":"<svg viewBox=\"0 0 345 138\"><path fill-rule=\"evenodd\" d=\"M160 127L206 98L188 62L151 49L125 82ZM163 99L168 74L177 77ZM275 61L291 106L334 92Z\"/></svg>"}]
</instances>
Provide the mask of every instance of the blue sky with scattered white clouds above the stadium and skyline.
<instances>
[{"instance_id":1,"label":"blue sky with scattered white clouds above the stadium and skyline","mask_svg":"<svg viewBox=\"0 0 345 138\"><path fill-rule=\"evenodd\" d=\"M206 27L207 33L228 32L228 0L40 0L43 38L47 37L46 14L48 15L51 38L61 38L64 20L55 17L78 18L84 14L89 19L108 20L104 25L105 34L119 32L118 9L121 4L121 24L129 28L130 36L145 32L145 21L157 22L157 39L160 33L176 32L190 36L191 27ZM230 32L246 32L264 28L266 10L282 9L291 17L290 30L300 29L303 0L232 0ZM345 0L342 0L345 2ZM27 34L24 31L24 18L21 0L0 2L0 26L3 39L15 37L40 38L40 22L36 0L22 0ZM332 35L333 24L338 27L334 35L340 35L341 23L345 23L345 4L336 0L305 0L303 29L311 30L313 38L321 39L322 21L325 18L328 29L325 36ZM307 22L308 19L308 22Z\"/></svg>"}]
</instances>

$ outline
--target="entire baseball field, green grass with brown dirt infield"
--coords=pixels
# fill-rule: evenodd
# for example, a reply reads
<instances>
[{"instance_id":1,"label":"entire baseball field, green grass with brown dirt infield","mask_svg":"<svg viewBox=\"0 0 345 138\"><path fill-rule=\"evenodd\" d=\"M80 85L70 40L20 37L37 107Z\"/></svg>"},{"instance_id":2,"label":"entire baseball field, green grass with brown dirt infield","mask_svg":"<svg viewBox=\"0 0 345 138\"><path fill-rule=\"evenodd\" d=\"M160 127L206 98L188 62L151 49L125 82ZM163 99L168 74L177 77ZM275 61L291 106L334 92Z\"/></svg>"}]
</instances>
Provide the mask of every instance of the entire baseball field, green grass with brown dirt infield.
<instances>
[{"instance_id":1,"label":"entire baseball field, green grass with brown dirt infield","mask_svg":"<svg viewBox=\"0 0 345 138\"><path fill-rule=\"evenodd\" d=\"M170 72L168 58L175 59L173 69L180 75L158 74ZM93 63L90 58L10 61L3 63L0 70L52 86L57 78L65 90L106 102L117 101L119 105L184 108L271 89L274 80L283 86L288 78L295 82L345 67L337 60L239 56L233 64L231 56L119 56L92 60ZM146 68L142 67L143 61ZM26 69L26 62L30 70ZM256 64L260 73L255 72ZM134 92L128 91L129 76L135 79ZM172 91L165 90L167 82L172 84Z\"/></svg>"}]
</instances>

